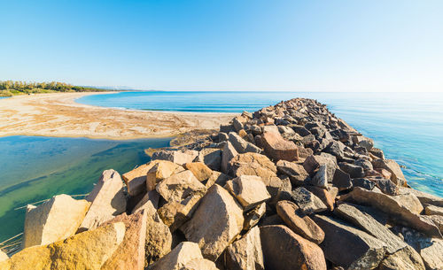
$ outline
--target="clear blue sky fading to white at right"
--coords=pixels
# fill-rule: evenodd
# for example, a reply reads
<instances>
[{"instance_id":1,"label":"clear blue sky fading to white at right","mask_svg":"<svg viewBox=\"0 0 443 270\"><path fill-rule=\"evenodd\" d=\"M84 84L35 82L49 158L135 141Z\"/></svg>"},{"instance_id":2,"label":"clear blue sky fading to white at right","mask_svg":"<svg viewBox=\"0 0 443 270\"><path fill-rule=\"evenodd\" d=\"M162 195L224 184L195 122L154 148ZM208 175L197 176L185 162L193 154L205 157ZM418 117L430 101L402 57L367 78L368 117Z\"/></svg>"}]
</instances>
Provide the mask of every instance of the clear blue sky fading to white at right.
<instances>
[{"instance_id":1,"label":"clear blue sky fading to white at right","mask_svg":"<svg viewBox=\"0 0 443 270\"><path fill-rule=\"evenodd\" d=\"M1 1L0 80L443 91L443 1Z\"/></svg>"}]
</instances>

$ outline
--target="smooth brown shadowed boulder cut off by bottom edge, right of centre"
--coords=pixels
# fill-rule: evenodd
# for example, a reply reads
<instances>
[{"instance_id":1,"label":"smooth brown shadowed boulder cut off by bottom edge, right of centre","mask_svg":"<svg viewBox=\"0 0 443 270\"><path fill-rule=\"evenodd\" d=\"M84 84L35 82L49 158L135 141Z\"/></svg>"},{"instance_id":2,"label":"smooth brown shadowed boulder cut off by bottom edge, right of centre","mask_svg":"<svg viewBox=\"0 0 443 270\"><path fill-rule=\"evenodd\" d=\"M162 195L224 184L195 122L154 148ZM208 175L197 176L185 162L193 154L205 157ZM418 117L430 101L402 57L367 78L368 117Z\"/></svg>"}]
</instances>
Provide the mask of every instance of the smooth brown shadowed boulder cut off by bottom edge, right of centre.
<instances>
[{"instance_id":1,"label":"smooth brown shadowed boulder cut off by bottom edge, right of centre","mask_svg":"<svg viewBox=\"0 0 443 270\"><path fill-rule=\"evenodd\" d=\"M323 251L282 225L260 227L266 269L326 270Z\"/></svg>"}]
</instances>

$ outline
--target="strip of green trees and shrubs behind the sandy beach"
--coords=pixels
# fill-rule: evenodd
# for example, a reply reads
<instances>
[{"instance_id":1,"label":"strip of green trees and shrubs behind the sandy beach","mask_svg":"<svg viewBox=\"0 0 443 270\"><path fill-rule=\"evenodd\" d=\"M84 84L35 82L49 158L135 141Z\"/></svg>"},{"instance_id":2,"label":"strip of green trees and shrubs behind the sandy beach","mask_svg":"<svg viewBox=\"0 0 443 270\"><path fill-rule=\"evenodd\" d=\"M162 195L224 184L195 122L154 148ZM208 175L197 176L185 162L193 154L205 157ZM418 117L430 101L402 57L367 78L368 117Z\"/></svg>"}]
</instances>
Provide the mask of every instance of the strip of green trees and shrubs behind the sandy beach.
<instances>
[{"instance_id":1,"label":"strip of green trees and shrubs behind the sandy beach","mask_svg":"<svg viewBox=\"0 0 443 270\"><path fill-rule=\"evenodd\" d=\"M100 92L109 91L91 87L74 86L65 82L0 81L0 96L29 95L57 92Z\"/></svg>"}]
</instances>

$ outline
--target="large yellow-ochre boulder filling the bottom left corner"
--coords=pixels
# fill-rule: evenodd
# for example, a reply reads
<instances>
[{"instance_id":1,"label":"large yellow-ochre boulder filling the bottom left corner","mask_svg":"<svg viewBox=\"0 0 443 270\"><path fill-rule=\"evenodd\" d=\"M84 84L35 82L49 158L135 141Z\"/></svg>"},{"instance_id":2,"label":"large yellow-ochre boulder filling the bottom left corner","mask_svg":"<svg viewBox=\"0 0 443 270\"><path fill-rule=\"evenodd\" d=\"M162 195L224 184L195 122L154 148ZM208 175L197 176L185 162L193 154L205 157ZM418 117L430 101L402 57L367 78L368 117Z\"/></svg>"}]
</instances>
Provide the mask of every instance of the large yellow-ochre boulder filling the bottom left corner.
<instances>
[{"instance_id":1,"label":"large yellow-ochre boulder filling the bottom left corner","mask_svg":"<svg viewBox=\"0 0 443 270\"><path fill-rule=\"evenodd\" d=\"M124 235L125 225L122 222L113 223L63 241L19 251L12 258L0 262L0 269L100 270L106 259L117 250Z\"/></svg>"}]
</instances>

